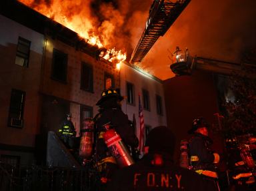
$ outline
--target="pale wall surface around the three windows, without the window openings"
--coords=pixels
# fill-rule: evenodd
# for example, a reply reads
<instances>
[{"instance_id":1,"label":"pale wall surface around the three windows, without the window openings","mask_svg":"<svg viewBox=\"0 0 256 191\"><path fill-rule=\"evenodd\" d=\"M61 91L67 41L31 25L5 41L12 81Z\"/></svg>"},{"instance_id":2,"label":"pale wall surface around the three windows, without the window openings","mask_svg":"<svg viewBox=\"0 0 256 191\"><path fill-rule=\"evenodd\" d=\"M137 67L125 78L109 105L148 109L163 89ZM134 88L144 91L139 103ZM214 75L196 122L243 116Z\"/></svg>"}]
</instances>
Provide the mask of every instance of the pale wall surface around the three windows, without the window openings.
<instances>
[{"instance_id":1,"label":"pale wall surface around the three windows, without the window openings","mask_svg":"<svg viewBox=\"0 0 256 191\"><path fill-rule=\"evenodd\" d=\"M127 98L122 101L122 109L125 112L129 120L133 120L133 114L136 120L137 136L139 136L139 95L141 97L141 104L143 104L142 89L149 91L149 105L150 110L143 110L145 125L155 126L167 125L167 116L165 112L165 96L163 91L163 83L145 73L133 68L129 64L121 65L121 95L127 96L127 83L134 85L134 104L127 103ZM163 114L157 114L156 95L161 96Z\"/></svg>"}]
</instances>

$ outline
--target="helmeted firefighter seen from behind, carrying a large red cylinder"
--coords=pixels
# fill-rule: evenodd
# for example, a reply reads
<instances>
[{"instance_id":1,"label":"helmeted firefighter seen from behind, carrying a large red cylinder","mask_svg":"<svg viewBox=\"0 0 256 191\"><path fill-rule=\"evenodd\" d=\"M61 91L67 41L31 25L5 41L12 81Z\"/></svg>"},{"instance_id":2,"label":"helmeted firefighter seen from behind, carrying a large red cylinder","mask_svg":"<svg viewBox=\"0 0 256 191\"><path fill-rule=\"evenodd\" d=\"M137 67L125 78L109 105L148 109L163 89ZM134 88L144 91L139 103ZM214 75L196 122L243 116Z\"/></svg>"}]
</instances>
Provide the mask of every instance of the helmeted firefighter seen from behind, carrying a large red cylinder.
<instances>
[{"instance_id":1,"label":"helmeted firefighter seen from behind, carrying a large red cylinder","mask_svg":"<svg viewBox=\"0 0 256 191\"><path fill-rule=\"evenodd\" d=\"M123 100L123 96L119 95L115 89L107 89L101 93L101 99L96 104L99 106L99 113L94 118L95 134L97 134L95 157L101 176L101 190L105 189L107 181L111 178L113 172L119 168L103 139L107 127L114 128L126 146L135 148L139 144L127 115L121 110L121 100Z\"/></svg>"}]
</instances>

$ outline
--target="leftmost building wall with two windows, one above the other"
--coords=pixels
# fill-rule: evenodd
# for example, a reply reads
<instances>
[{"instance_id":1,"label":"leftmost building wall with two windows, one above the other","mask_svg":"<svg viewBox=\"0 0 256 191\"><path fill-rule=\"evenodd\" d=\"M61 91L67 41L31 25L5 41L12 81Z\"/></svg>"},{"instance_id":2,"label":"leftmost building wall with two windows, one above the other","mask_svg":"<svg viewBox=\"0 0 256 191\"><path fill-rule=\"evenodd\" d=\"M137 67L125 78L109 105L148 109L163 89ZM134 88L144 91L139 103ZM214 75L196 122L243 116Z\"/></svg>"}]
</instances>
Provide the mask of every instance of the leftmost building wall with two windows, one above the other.
<instances>
[{"instance_id":1,"label":"leftmost building wall with two windows, one above the other","mask_svg":"<svg viewBox=\"0 0 256 191\"><path fill-rule=\"evenodd\" d=\"M19 37L31 41L29 67L21 67L15 64ZM43 40L43 35L40 33L0 15L1 154L22 155L21 164L33 161L32 152L35 146L35 134L39 132L39 84ZM26 93L22 128L7 125L12 89ZM26 158L30 159L26 160Z\"/></svg>"}]
</instances>

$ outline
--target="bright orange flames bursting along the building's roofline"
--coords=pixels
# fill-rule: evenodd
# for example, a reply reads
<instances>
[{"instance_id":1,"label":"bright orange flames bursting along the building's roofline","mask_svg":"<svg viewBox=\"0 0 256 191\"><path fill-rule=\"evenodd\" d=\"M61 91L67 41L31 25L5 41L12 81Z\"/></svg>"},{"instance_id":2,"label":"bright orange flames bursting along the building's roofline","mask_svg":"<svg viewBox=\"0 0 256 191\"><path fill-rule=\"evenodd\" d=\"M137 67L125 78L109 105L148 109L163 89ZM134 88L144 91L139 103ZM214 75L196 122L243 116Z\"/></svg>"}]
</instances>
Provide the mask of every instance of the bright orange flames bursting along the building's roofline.
<instances>
[{"instance_id":1,"label":"bright orange flames bursting along the building's roofline","mask_svg":"<svg viewBox=\"0 0 256 191\"><path fill-rule=\"evenodd\" d=\"M85 39L87 43L99 48L109 45L110 38L104 35L95 35L96 32L94 26L97 23L96 19L93 19L90 15L89 3L91 1L62 1L62 0L53 0L49 1L51 4L47 4L45 1L39 1L35 3L35 0L18 0L21 3L31 7L35 11L53 19L57 23L75 31L79 37ZM110 26L110 25L109 25ZM113 31L113 26L111 31ZM109 34L111 35L111 34ZM123 63L126 59L126 53L121 51L115 51L115 48L108 49L105 53L100 55L103 59L107 61L114 62L117 65Z\"/></svg>"}]
</instances>

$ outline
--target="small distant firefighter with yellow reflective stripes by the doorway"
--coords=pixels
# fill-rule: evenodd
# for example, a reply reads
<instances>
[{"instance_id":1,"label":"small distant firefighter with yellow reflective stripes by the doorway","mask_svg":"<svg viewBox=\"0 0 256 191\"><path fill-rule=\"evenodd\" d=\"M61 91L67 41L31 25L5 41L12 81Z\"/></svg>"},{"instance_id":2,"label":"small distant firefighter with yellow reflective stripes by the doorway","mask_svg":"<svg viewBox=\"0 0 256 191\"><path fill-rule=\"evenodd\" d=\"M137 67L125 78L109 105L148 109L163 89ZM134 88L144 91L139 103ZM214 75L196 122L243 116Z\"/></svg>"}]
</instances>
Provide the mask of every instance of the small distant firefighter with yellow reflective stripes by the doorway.
<instances>
[{"instance_id":1,"label":"small distant firefighter with yellow reflective stripes by the doorway","mask_svg":"<svg viewBox=\"0 0 256 191\"><path fill-rule=\"evenodd\" d=\"M66 114L65 120L63 120L61 123L61 128L59 128L59 133L65 146L72 150L75 146L75 136L77 133L75 131L75 126L71 121L71 117L71 113Z\"/></svg>"}]
</instances>

